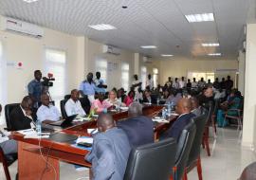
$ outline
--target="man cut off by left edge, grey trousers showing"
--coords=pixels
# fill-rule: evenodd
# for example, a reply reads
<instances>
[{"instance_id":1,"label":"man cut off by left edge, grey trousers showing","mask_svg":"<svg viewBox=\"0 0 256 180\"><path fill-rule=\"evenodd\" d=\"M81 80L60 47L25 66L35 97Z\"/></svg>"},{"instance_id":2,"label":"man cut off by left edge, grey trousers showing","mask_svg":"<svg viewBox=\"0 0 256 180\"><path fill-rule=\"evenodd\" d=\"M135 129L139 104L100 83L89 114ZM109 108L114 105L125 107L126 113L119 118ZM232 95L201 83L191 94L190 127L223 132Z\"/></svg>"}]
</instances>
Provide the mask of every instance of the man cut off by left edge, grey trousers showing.
<instances>
[{"instance_id":1,"label":"man cut off by left edge, grey trousers showing","mask_svg":"<svg viewBox=\"0 0 256 180\"><path fill-rule=\"evenodd\" d=\"M2 112L2 106L0 104L0 114ZM17 153L17 142L15 140L9 139L3 131L0 130L0 147L5 154Z\"/></svg>"}]
</instances>

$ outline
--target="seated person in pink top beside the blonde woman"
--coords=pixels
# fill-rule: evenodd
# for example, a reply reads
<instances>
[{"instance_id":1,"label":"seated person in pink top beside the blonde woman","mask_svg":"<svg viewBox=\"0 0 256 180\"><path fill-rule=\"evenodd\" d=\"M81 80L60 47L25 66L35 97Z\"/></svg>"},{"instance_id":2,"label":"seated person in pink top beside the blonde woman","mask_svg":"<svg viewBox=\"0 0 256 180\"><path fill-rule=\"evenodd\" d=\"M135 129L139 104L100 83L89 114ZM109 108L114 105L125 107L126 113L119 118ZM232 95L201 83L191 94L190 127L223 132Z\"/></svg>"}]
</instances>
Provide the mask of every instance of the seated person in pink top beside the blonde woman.
<instances>
[{"instance_id":1,"label":"seated person in pink top beside the blonde woman","mask_svg":"<svg viewBox=\"0 0 256 180\"><path fill-rule=\"evenodd\" d=\"M108 100L104 99L104 95L100 93L98 95L98 99L95 99L92 102L91 110L95 110L97 113L101 113L110 108L111 106L111 103Z\"/></svg>"}]
</instances>

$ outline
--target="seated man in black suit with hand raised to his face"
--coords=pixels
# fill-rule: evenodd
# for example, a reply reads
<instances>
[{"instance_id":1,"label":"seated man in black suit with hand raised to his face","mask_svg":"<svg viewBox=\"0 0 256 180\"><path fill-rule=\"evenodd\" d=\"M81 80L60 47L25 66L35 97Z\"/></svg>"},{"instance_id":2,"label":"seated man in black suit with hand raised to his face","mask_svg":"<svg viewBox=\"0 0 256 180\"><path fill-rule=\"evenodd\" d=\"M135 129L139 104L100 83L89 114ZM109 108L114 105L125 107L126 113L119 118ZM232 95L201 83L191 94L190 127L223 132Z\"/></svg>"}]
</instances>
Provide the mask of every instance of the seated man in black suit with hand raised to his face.
<instances>
[{"instance_id":1,"label":"seated man in black suit with hand raised to his face","mask_svg":"<svg viewBox=\"0 0 256 180\"><path fill-rule=\"evenodd\" d=\"M26 130L34 128L34 121L32 116L32 99L27 96L22 99L21 104L14 108L9 114L11 123L11 131Z\"/></svg>"}]
</instances>

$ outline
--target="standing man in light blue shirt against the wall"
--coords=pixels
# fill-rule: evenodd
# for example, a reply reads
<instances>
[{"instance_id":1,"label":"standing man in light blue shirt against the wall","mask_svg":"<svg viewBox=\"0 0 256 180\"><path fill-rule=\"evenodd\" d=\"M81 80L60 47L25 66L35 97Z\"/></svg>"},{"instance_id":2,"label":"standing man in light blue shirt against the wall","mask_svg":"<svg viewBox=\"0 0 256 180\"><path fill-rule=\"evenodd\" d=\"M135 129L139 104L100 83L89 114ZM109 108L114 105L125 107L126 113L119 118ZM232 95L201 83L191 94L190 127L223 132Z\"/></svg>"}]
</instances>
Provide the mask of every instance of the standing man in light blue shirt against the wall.
<instances>
[{"instance_id":1,"label":"standing man in light blue shirt against the wall","mask_svg":"<svg viewBox=\"0 0 256 180\"><path fill-rule=\"evenodd\" d=\"M79 90L82 97L86 95L92 103L95 100L94 96L96 89L95 83L93 81L93 74L91 72L88 73L86 79L87 80L82 81L82 83L80 84Z\"/></svg>"}]
</instances>

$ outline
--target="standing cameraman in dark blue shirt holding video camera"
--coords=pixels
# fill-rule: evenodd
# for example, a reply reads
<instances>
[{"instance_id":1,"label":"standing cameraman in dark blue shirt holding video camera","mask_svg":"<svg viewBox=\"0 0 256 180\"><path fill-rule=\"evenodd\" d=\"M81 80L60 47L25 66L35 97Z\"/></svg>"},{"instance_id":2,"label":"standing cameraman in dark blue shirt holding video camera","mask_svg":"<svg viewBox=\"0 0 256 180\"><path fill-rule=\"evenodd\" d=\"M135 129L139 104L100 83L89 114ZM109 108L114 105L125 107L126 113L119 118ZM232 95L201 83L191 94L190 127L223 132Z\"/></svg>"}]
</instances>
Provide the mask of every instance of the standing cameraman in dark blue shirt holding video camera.
<instances>
[{"instance_id":1,"label":"standing cameraman in dark blue shirt holding video camera","mask_svg":"<svg viewBox=\"0 0 256 180\"><path fill-rule=\"evenodd\" d=\"M34 71L35 79L27 84L28 96L33 100L33 107L38 108L38 102L41 101L43 93L43 84L41 82L42 73L40 70Z\"/></svg>"}]
</instances>

